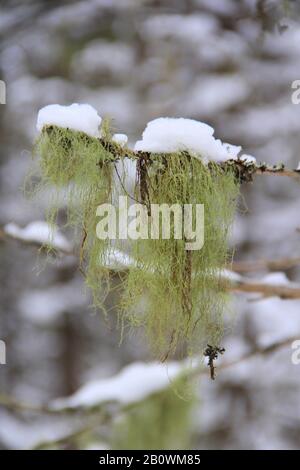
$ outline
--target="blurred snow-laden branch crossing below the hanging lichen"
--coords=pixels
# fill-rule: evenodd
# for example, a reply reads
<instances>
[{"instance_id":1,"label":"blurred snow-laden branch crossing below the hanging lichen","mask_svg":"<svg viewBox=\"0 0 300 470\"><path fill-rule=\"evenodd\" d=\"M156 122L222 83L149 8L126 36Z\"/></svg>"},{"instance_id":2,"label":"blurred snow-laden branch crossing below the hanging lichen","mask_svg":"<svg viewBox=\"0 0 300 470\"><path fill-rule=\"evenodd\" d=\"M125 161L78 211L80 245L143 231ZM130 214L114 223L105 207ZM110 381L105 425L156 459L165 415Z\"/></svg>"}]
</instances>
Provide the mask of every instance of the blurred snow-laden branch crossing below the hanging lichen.
<instances>
[{"instance_id":1,"label":"blurred snow-laden branch crossing below the hanging lichen","mask_svg":"<svg viewBox=\"0 0 300 470\"><path fill-rule=\"evenodd\" d=\"M285 337L280 341L270 343L266 346L258 346L255 349L245 353L244 355L236 359L232 359L231 361L222 360L222 362L218 365L218 371L230 369L256 356L265 356L282 348L290 347L292 343L296 340L299 340L299 336ZM113 400L116 401L116 399L119 399L122 395L122 389L117 392L115 389L116 386L120 385L120 383L121 385L124 385L124 377L125 379L128 379L130 377L128 370L129 372L130 369L131 372L134 370L137 371L137 369L135 369L137 366L139 368L144 368L142 376L137 376L134 379L135 384L138 381L140 389L133 391L133 399L131 399L128 393L129 389L131 389L131 386L129 384L129 388L125 388L122 402L118 402L120 406L110 408L108 405ZM155 371L155 373L153 373L153 371ZM147 376L148 372L150 372L149 377ZM150 394L155 393L157 391L161 391L164 388L170 386L172 383L171 380L176 379L176 377L179 378L185 376L193 378L207 375L207 367L201 361L198 361L198 364L194 367L188 367L186 363L179 362L169 363L168 365L156 363L148 365L142 363L135 363L125 367L123 371L121 371L119 374L110 379L102 379L84 385L71 397L57 399L54 402L45 405L33 405L30 403L18 401L12 398L11 396L1 394L0 406L3 406L7 409L11 409L13 411L32 412L37 414L61 414L64 412L78 413L80 411L84 411L85 416L89 416L87 412L91 410L94 413L95 406L97 405L99 407L99 410L104 412L106 416L106 421L110 421L114 419L116 415L119 415L122 412L126 412L127 409L131 409L132 407L140 403L140 401L144 400ZM157 378L157 386L156 384L151 384L150 386L150 379L155 380ZM130 378L130 380L132 379ZM143 385L143 380L144 386L141 387L141 384ZM110 400L108 399L109 397L111 398ZM106 410L106 412L104 410Z\"/></svg>"}]
</instances>

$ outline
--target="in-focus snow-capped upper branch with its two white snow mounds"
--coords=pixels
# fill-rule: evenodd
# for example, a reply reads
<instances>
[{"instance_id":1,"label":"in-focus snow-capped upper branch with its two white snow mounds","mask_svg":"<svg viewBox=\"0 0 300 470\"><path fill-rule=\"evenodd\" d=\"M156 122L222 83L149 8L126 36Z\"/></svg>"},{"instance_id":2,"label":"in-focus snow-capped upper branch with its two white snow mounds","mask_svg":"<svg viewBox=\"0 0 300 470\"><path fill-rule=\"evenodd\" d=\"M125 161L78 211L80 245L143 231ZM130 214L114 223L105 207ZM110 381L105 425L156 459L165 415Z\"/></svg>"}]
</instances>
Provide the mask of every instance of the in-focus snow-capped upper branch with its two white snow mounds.
<instances>
[{"instance_id":1,"label":"in-focus snow-capped upper branch with its two white snow mounds","mask_svg":"<svg viewBox=\"0 0 300 470\"><path fill-rule=\"evenodd\" d=\"M210 161L235 168L241 181L253 180L253 175L277 175L300 178L300 169L288 169L283 164L257 163L252 155L239 155L241 147L223 143L214 136L214 129L206 123L185 118L158 118L150 121L142 139L134 149L129 148L125 134L114 134L107 139L103 132L103 120L88 104L74 103L70 106L48 105L38 113L37 130L51 132L53 127L71 129L82 134L82 138L97 138L116 160L129 158L151 159L151 154L185 152L204 163Z\"/></svg>"}]
</instances>

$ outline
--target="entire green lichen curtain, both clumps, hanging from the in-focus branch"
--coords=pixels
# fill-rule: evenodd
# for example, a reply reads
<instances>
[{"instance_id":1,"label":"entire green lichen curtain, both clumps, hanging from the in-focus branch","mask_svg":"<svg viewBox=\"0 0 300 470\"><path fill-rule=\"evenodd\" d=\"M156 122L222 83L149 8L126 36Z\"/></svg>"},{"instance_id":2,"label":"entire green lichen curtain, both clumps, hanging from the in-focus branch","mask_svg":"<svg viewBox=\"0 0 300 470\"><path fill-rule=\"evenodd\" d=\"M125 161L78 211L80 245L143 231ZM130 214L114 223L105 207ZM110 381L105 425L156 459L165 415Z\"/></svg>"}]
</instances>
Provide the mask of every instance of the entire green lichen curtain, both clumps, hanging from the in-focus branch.
<instances>
[{"instance_id":1,"label":"entire green lichen curtain, both clumps, hanging from the in-focus branch","mask_svg":"<svg viewBox=\"0 0 300 470\"><path fill-rule=\"evenodd\" d=\"M40 181L34 191L55 190L48 221L56 223L63 196L66 226L75 228L81 271L94 306L106 312L105 298L113 286L122 325L129 320L132 327L142 327L156 357L166 360L175 353L194 354L207 343L218 345L227 301L221 273L231 258L228 235L239 193L234 169L205 165L186 152L133 155L113 144L104 129L101 139L56 126L41 132L34 151ZM204 245L188 251L187 240L175 239L172 230L168 240L130 241L133 265L113 285L108 257L122 242L97 238L96 209L126 194L124 181L114 173L116 161L126 156L137 159L132 200L145 205L150 220L151 204L204 205Z\"/></svg>"}]
</instances>

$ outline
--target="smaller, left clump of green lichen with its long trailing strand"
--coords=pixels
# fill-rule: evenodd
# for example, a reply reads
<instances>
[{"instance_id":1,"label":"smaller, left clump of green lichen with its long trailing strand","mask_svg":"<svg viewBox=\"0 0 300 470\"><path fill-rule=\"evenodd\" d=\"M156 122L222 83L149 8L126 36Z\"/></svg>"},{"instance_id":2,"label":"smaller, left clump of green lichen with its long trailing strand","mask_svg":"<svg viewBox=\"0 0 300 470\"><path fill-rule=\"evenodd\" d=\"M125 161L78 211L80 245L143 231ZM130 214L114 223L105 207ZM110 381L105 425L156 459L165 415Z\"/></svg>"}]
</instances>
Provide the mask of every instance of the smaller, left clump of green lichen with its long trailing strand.
<instances>
[{"instance_id":1,"label":"smaller, left clump of green lichen with its long trailing strand","mask_svg":"<svg viewBox=\"0 0 300 470\"><path fill-rule=\"evenodd\" d=\"M97 289L99 298L100 281L104 275L108 278L104 265L109 240L96 237L96 208L112 202L115 157L99 139L57 126L43 128L34 154L40 162L35 192L49 189L51 194L47 219L55 224L59 208L65 206L65 225L74 228L80 239L80 262L86 270L87 285Z\"/></svg>"}]
</instances>

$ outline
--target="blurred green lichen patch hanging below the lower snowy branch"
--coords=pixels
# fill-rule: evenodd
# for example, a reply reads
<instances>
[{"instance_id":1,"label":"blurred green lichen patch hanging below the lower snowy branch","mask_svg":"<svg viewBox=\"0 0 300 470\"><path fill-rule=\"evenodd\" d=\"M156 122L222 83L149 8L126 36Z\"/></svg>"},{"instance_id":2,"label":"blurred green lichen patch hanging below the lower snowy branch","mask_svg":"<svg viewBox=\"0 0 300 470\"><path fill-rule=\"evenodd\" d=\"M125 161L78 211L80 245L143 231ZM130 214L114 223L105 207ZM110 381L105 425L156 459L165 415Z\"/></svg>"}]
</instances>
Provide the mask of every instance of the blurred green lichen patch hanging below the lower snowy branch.
<instances>
[{"instance_id":1,"label":"blurred green lichen patch hanging below the lower snowy branch","mask_svg":"<svg viewBox=\"0 0 300 470\"><path fill-rule=\"evenodd\" d=\"M112 449L190 449L194 399L183 400L175 384L126 410L115 422ZM176 388L186 389L185 381Z\"/></svg>"}]
</instances>

